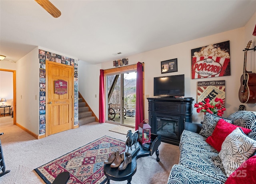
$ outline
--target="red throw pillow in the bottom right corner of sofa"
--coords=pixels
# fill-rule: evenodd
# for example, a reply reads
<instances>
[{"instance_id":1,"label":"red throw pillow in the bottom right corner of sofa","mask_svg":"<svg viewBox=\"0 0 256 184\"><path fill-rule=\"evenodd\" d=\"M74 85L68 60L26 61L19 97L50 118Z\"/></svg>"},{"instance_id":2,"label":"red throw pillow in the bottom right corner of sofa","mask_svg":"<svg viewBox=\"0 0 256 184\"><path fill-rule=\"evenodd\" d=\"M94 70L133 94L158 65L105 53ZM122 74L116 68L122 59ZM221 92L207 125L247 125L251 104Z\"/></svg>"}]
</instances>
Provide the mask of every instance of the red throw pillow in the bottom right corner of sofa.
<instances>
[{"instance_id":1,"label":"red throw pillow in the bottom right corner of sofa","mask_svg":"<svg viewBox=\"0 0 256 184\"><path fill-rule=\"evenodd\" d=\"M252 184L256 183L256 155L237 168L227 179L225 184Z\"/></svg>"}]
</instances>

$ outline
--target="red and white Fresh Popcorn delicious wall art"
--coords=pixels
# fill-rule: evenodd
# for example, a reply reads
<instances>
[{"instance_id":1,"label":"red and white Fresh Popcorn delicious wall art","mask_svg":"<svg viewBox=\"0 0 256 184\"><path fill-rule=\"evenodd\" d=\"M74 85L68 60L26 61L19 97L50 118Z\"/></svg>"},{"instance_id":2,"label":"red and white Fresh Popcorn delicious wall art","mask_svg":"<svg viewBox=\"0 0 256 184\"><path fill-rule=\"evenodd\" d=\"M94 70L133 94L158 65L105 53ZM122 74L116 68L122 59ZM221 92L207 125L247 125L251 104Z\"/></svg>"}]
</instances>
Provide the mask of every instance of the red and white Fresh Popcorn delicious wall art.
<instances>
[{"instance_id":1,"label":"red and white Fresh Popcorn delicious wall art","mask_svg":"<svg viewBox=\"0 0 256 184\"><path fill-rule=\"evenodd\" d=\"M192 79L230 76L229 41L191 50Z\"/></svg>"}]
</instances>

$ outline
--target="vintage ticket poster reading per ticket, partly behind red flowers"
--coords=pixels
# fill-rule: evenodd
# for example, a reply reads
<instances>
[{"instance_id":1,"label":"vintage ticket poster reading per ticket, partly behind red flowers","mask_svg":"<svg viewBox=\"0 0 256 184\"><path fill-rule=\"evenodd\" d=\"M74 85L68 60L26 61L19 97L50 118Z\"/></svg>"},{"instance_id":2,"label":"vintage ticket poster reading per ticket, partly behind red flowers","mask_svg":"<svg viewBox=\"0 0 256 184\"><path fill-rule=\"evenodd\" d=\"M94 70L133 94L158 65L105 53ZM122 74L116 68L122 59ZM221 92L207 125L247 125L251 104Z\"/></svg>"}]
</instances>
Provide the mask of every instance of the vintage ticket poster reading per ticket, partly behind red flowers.
<instances>
[{"instance_id":1,"label":"vintage ticket poster reading per ticket, partly behind red flowers","mask_svg":"<svg viewBox=\"0 0 256 184\"><path fill-rule=\"evenodd\" d=\"M206 98L210 99L210 102L215 103L215 98L221 98L223 104L222 108L225 108L226 101L226 82L225 80L215 81L202 81L197 82L197 103L203 102L205 104Z\"/></svg>"}]
</instances>

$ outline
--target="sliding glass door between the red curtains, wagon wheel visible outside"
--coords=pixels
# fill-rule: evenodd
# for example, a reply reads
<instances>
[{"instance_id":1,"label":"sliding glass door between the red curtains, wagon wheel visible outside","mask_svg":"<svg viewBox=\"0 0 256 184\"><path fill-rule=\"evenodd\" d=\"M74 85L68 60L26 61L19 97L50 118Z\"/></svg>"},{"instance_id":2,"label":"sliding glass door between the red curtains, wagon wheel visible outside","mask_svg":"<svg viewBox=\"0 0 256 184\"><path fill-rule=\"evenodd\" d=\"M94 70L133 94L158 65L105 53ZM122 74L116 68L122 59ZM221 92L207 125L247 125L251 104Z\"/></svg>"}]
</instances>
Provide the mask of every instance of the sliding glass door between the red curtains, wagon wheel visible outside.
<instances>
[{"instance_id":1,"label":"sliding glass door between the red curtains, wagon wheel visible outside","mask_svg":"<svg viewBox=\"0 0 256 184\"><path fill-rule=\"evenodd\" d=\"M136 72L109 74L105 84L107 120L135 126Z\"/></svg>"}]
</instances>

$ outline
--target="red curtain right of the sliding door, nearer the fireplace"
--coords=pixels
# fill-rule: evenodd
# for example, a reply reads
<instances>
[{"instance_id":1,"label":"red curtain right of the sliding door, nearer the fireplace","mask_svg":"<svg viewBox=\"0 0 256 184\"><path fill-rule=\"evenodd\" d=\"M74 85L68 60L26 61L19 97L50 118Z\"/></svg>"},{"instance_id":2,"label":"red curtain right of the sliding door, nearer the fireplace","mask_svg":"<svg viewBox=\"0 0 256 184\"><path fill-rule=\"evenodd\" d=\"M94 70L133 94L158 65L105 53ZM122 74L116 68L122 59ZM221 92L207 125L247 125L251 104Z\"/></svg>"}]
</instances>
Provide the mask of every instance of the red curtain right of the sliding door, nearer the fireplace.
<instances>
[{"instance_id":1,"label":"red curtain right of the sliding door, nearer the fireplace","mask_svg":"<svg viewBox=\"0 0 256 184\"><path fill-rule=\"evenodd\" d=\"M135 115L135 130L138 130L138 125L144 120L144 100L143 100L143 64L137 63L137 80L136 80L136 115Z\"/></svg>"}]
</instances>

